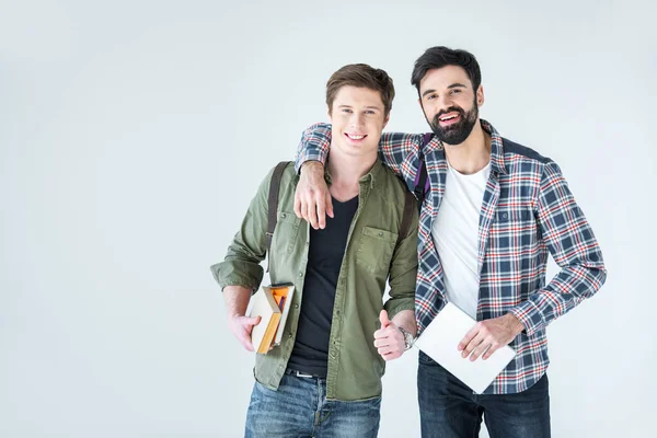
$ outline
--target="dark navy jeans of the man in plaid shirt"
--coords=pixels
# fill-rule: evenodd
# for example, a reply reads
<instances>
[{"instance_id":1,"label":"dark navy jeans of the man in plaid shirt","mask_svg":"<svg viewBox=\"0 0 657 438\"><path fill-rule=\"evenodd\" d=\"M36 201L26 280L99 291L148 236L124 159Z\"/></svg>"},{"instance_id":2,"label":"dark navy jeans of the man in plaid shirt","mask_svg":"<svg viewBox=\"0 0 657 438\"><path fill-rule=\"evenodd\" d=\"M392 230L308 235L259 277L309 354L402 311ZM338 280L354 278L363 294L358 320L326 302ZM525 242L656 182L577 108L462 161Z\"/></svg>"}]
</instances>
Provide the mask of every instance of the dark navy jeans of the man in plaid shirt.
<instances>
[{"instance_id":1,"label":"dark navy jeans of the man in plaid shirt","mask_svg":"<svg viewBox=\"0 0 657 438\"><path fill-rule=\"evenodd\" d=\"M417 397L423 438L476 437L482 414L491 438L550 437L546 374L516 394L474 394L422 351L418 362Z\"/></svg>"}]
</instances>

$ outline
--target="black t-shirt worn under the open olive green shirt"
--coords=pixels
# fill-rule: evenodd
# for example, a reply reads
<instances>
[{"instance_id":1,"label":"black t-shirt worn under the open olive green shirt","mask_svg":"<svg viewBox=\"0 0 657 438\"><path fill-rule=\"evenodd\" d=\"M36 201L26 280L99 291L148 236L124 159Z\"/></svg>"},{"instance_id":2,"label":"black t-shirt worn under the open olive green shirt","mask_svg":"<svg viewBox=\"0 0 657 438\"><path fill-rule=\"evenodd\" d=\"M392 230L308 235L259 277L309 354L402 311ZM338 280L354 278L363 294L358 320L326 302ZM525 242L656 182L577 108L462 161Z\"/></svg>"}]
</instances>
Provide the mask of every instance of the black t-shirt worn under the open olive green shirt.
<instances>
[{"instance_id":1,"label":"black t-shirt worn under the open olive green shirt","mask_svg":"<svg viewBox=\"0 0 657 438\"><path fill-rule=\"evenodd\" d=\"M358 209L358 196L339 203L333 199L333 218L323 230L310 228L310 246L297 338L288 368L326 377L333 303L347 235Z\"/></svg>"}]
</instances>

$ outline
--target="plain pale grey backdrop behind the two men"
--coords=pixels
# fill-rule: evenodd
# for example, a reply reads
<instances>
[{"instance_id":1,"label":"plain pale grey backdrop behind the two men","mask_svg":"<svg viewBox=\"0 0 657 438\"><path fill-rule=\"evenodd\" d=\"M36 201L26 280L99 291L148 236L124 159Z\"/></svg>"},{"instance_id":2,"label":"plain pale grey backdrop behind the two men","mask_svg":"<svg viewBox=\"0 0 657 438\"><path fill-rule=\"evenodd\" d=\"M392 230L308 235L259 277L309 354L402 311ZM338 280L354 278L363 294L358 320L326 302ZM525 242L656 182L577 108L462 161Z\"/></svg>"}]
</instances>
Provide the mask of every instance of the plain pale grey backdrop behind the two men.
<instances>
[{"instance_id":1,"label":"plain pale grey backdrop behind the two men","mask_svg":"<svg viewBox=\"0 0 657 438\"><path fill-rule=\"evenodd\" d=\"M477 56L482 117L562 166L607 261L549 328L553 436L654 434L653 4L1 0L0 436L241 436L253 356L208 266L337 68L427 130L434 45ZM381 437L419 436L415 373L389 365Z\"/></svg>"}]
</instances>

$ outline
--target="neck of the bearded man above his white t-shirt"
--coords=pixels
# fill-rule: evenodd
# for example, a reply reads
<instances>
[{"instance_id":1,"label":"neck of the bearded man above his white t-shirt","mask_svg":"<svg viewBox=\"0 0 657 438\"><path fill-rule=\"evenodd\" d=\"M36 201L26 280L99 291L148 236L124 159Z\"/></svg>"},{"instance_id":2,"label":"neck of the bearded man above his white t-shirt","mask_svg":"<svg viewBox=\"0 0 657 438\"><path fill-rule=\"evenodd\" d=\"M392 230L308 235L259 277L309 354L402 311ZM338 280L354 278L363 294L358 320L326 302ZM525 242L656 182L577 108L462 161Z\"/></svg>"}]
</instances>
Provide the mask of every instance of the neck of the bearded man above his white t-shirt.
<instances>
[{"instance_id":1,"label":"neck of the bearded man above his white t-shirt","mask_svg":"<svg viewBox=\"0 0 657 438\"><path fill-rule=\"evenodd\" d=\"M449 164L464 175L481 171L491 161L491 135L484 131L479 119L465 141L443 146Z\"/></svg>"}]
</instances>

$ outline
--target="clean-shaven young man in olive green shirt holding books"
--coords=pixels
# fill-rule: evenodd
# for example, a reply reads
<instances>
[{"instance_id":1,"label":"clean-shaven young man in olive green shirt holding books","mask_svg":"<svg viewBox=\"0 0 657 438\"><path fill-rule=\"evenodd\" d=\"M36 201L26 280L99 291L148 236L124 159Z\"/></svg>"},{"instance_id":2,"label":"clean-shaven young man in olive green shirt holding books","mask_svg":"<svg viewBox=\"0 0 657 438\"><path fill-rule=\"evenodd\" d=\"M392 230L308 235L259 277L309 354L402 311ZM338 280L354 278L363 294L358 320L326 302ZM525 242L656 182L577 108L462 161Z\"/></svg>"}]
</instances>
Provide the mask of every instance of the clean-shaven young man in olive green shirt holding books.
<instances>
[{"instance_id":1,"label":"clean-shaven young man in olive green shirt holding books","mask_svg":"<svg viewBox=\"0 0 657 438\"><path fill-rule=\"evenodd\" d=\"M333 140L322 181L334 217L322 230L292 212L299 178L292 165L284 170L269 276L296 291L280 346L256 355L246 437L377 436L385 360L410 348L416 332L417 204L377 157L393 97L392 79L367 65L328 80ZM258 321L245 311L263 278L272 175L212 266L230 330L249 350Z\"/></svg>"}]
</instances>

